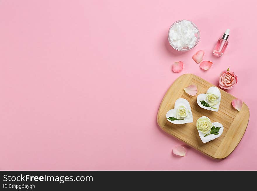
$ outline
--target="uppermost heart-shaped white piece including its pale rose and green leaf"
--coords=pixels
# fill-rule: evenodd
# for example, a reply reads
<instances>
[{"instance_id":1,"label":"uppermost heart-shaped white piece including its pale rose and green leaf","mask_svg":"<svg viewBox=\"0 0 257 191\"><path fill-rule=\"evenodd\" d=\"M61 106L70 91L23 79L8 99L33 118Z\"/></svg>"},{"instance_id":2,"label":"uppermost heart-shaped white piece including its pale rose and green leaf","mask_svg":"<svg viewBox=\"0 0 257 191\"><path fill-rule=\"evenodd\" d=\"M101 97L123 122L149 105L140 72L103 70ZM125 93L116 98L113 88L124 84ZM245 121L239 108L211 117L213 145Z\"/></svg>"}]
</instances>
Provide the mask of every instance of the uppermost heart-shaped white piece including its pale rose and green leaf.
<instances>
[{"instance_id":1,"label":"uppermost heart-shaped white piece including its pale rose and green leaf","mask_svg":"<svg viewBox=\"0 0 257 191\"><path fill-rule=\"evenodd\" d=\"M221 94L220 90L212 86L206 91L206 94L197 96L197 104L204 109L218 111L220 106Z\"/></svg>"}]
</instances>

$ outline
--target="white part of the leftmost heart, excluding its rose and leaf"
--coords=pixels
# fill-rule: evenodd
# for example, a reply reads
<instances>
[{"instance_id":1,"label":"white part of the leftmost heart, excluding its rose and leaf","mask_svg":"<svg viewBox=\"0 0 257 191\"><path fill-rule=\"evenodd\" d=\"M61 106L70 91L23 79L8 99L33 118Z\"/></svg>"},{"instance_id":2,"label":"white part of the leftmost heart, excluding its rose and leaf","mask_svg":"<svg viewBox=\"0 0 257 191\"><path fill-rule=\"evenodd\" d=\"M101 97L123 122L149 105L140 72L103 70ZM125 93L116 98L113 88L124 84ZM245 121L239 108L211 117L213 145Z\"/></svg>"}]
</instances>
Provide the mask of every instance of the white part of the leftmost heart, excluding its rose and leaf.
<instances>
[{"instance_id":1,"label":"white part of the leftmost heart, excluding its rose and leaf","mask_svg":"<svg viewBox=\"0 0 257 191\"><path fill-rule=\"evenodd\" d=\"M178 113L178 110L181 108L183 108L186 113L186 117L181 117L184 119L174 120L174 121L168 119L169 117L178 118L179 116L177 113ZM184 98L178 98L175 102L174 109L171 109L166 113L166 118L169 122L174 123L174 124L192 123L193 115L192 115L192 111L191 111L189 102Z\"/></svg>"}]
</instances>

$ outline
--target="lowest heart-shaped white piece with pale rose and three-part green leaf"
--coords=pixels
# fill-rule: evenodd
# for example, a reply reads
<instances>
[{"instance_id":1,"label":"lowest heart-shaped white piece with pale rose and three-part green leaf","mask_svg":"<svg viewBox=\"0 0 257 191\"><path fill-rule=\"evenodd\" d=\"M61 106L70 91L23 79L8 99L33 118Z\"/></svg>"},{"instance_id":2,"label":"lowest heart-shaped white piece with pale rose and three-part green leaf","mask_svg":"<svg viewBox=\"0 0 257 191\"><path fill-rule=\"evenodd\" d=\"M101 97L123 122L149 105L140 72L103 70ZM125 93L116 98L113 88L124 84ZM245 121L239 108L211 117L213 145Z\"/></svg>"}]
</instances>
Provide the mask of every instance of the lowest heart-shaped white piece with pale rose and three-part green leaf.
<instances>
[{"instance_id":1,"label":"lowest heart-shaped white piece with pale rose and three-part green leaf","mask_svg":"<svg viewBox=\"0 0 257 191\"><path fill-rule=\"evenodd\" d=\"M221 123L212 123L209 117L205 116L197 119L196 128L203 143L220 137L224 130L224 127Z\"/></svg>"}]
</instances>

